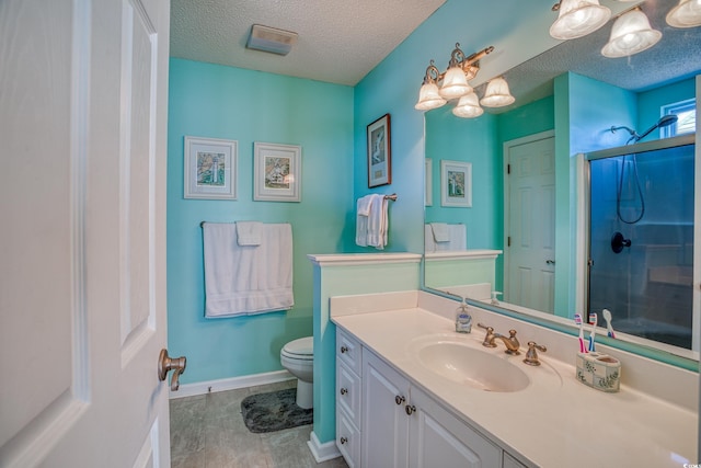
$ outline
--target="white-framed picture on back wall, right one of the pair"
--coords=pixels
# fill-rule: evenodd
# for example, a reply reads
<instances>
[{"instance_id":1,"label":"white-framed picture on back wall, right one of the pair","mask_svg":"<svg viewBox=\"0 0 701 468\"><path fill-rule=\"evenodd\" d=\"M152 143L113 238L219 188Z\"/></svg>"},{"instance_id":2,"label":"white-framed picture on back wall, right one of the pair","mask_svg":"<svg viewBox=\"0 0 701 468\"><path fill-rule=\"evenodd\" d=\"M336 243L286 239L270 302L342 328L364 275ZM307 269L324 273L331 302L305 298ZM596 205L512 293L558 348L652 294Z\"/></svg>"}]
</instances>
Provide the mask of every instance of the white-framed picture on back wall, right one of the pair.
<instances>
[{"instance_id":1,"label":"white-framed picture on back wall, right one of the pair","mask_svg":"<svg viewBox=\"0 0 701 468\"><path fill-rule=\"evenodd\" d=\"M253 144L253 199L300 202L301 146Z\"/></svg>"}]
</instances>

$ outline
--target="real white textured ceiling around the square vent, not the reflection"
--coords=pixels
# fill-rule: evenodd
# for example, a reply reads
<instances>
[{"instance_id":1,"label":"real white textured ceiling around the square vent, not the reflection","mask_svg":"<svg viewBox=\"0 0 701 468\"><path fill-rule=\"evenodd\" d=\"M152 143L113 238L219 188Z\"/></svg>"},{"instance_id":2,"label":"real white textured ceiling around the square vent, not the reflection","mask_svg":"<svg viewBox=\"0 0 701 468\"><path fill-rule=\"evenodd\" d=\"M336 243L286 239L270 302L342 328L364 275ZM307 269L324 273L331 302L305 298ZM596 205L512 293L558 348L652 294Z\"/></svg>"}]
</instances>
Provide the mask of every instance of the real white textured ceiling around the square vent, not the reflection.
<instances>
[{"instance_id":1,"label":"real white textured ceiling around the square vent, not the reflection","mask_svg":"<svg viewBox=\"0 0 701 468\"><path fill-rule=\"evenodd\" d=\"M172 0L171 57L355 85L446 0ZM245 48L253 24L299 34Z\"/></svg>"}]
</instances>

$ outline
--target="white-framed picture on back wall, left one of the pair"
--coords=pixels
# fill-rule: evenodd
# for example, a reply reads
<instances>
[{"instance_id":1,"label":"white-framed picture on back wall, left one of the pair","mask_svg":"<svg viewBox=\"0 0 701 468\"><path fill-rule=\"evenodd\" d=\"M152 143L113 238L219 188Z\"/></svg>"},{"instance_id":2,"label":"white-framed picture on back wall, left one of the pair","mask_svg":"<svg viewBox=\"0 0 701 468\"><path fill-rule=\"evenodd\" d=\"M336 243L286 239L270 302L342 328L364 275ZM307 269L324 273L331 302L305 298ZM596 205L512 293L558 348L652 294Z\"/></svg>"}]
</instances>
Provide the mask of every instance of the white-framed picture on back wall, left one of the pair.
<instances>
[{"instance_id":1,"label":"white-framed picture on back wall, left one of the pair","mask_svg":"<svg viewBox=\"0 0 701 468\"><path fill-rule=\"evenodd\" d=\"M237 141L186 136L184 156L185 198L237 198Z\"/></svg>"}]
</instances>

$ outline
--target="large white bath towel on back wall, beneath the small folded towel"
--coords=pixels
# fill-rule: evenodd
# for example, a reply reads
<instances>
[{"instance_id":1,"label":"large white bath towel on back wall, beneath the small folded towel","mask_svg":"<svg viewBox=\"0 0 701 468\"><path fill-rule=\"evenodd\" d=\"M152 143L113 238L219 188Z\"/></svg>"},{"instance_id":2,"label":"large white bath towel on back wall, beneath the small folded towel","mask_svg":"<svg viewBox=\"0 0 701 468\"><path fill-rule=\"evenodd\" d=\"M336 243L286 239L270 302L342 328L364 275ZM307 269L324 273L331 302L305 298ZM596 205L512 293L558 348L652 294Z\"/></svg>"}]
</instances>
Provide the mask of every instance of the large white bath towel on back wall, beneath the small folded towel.
<instances>
[{"instance_id":1,"label":"large white bath towel on back wall, beneath the small folded towel","mask_svg":"<svg viewBox=\"0 0 701 468\"><path fill-rule=\"evenodd\" d=\"M292 229L264 224L260 246L239 246L234 224L203 225L205 317L234 317L295 305Z\"/></svg>"}]
</instances>

